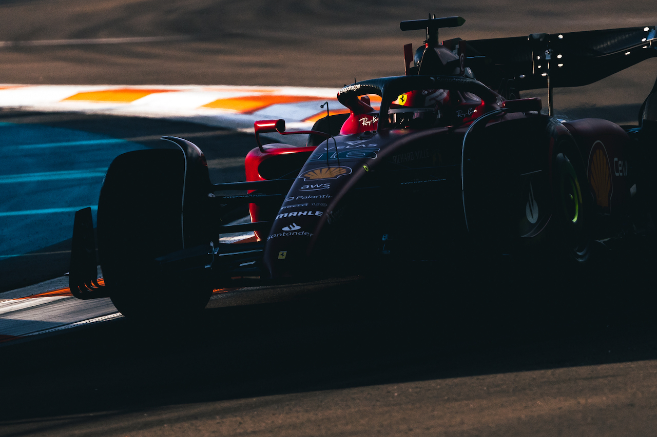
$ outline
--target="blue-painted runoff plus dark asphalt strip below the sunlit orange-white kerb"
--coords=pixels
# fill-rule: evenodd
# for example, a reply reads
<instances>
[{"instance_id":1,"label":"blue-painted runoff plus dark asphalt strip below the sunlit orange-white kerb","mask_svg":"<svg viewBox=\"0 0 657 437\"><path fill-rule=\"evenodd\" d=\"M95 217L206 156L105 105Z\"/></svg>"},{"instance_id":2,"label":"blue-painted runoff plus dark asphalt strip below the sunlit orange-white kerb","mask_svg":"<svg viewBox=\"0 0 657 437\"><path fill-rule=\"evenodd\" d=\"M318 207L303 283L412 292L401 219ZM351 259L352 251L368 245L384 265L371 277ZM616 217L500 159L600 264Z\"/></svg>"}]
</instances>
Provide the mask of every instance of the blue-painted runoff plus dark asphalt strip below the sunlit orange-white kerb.
<instances>
[{"instance_id":1,"label":"blue-painted runoff plus dark asphalt strip below the sunlit orange-white kerb","mask_svg":"<svg viewBox=\"0 0 657 437\"><path fill-rule=\"evenodd\" d=\"M234 182L244 180L244 156L254 146L251 136L225 129L147 118L4 111L0 122L0 292L68 272L74 210L97 205L118 154L183 136L203 148L213 180Z\"/></svg>"}]
</instances>

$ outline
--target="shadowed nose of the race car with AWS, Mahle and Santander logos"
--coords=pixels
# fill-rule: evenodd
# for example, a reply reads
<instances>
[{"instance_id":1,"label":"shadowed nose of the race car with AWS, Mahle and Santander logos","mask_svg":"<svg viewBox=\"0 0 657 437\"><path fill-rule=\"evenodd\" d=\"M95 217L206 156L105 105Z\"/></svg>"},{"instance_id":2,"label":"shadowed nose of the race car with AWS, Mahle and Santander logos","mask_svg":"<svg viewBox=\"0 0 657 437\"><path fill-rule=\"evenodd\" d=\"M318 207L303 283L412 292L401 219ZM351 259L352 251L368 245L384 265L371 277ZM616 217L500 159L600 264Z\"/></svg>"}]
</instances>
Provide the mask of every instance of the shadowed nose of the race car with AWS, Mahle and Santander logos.
<instances>
[{"instance_id":1,"label":"shadowed nose of the race car with AWS, Mahle and Santander logos","mask_svg":"<svg viewBox=\"0 0 657 437\"><path fill-rule=\"evenodd\" d=\"M388 256L435 257L440 236L463 235L463 130L344 135L311 154L265 245L272 277L365 268ZM455 214L454 214L455 213ZM394 249L394 250L393 250Z\"/></svg>"}]
</instances>

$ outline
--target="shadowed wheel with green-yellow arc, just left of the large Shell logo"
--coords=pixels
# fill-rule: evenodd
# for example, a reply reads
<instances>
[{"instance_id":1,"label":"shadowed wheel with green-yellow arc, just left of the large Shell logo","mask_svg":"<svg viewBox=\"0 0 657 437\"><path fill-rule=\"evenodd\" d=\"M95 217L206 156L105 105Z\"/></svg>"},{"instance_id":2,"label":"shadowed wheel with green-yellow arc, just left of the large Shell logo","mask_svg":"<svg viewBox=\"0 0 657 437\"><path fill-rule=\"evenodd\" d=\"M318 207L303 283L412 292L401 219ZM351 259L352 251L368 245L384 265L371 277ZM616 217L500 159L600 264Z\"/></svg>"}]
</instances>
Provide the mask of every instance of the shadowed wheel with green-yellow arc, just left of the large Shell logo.
<instances>
[{"instance_id":1,"label":"shadowed wheel with green-yellow arc, just left of the large Shell logo","mask_svg":"<svg viewBox=\"0 0 657 437\"><path fill-rule=\"evenodd\" d=\"M468 133L468 234L491 253L587 260L592 197L574 138L551 117L514 115Z\"/></svg>"}]
</instances>

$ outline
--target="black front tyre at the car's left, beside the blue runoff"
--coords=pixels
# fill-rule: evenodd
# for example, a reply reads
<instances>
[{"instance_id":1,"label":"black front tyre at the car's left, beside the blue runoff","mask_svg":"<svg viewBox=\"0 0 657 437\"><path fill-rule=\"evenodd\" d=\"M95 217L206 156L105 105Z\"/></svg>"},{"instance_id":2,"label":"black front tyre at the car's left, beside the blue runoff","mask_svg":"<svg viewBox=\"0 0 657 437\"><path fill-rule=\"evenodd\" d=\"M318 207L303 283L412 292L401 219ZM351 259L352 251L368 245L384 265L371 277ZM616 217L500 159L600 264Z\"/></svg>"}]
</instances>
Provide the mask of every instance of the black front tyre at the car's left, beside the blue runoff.
<instances>
[{"instance_id":1,"label":"black front tyre at the car's left, beside the blue runoff","mask_svg":"<svg viewBox=\"0 0 657 437\"><path fill-rule=\"evenodd\" d=\"M210 299L207 280L162 272L154 261L183 249L184 178L185 155L173 149L129 152L108 169L98 204L99 257L125 316L187 318Z\"/></svg>"}]
</instances>

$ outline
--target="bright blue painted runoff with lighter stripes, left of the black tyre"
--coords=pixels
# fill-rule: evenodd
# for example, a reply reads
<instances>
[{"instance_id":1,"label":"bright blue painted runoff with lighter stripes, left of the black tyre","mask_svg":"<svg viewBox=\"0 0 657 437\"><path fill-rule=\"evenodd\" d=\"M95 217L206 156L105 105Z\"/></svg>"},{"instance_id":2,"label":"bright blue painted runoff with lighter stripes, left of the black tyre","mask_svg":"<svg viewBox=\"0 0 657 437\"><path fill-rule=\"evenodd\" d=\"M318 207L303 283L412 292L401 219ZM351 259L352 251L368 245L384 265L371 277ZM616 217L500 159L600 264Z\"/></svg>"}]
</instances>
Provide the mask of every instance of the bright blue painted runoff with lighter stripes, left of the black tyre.
<instances>
[{"instance_id":1,"label":"bright blue painted runoff with lighter stripes, left of the black tyre","mask_svg":"<svg viewBox=\"0 0 657 437\"><path fill-rule=\"evenodd\" d=\"M92 207L112 159L145 148L105 135L0 123L0 260L71 238L78 209Z\"/></svg>"}]
</instances>

